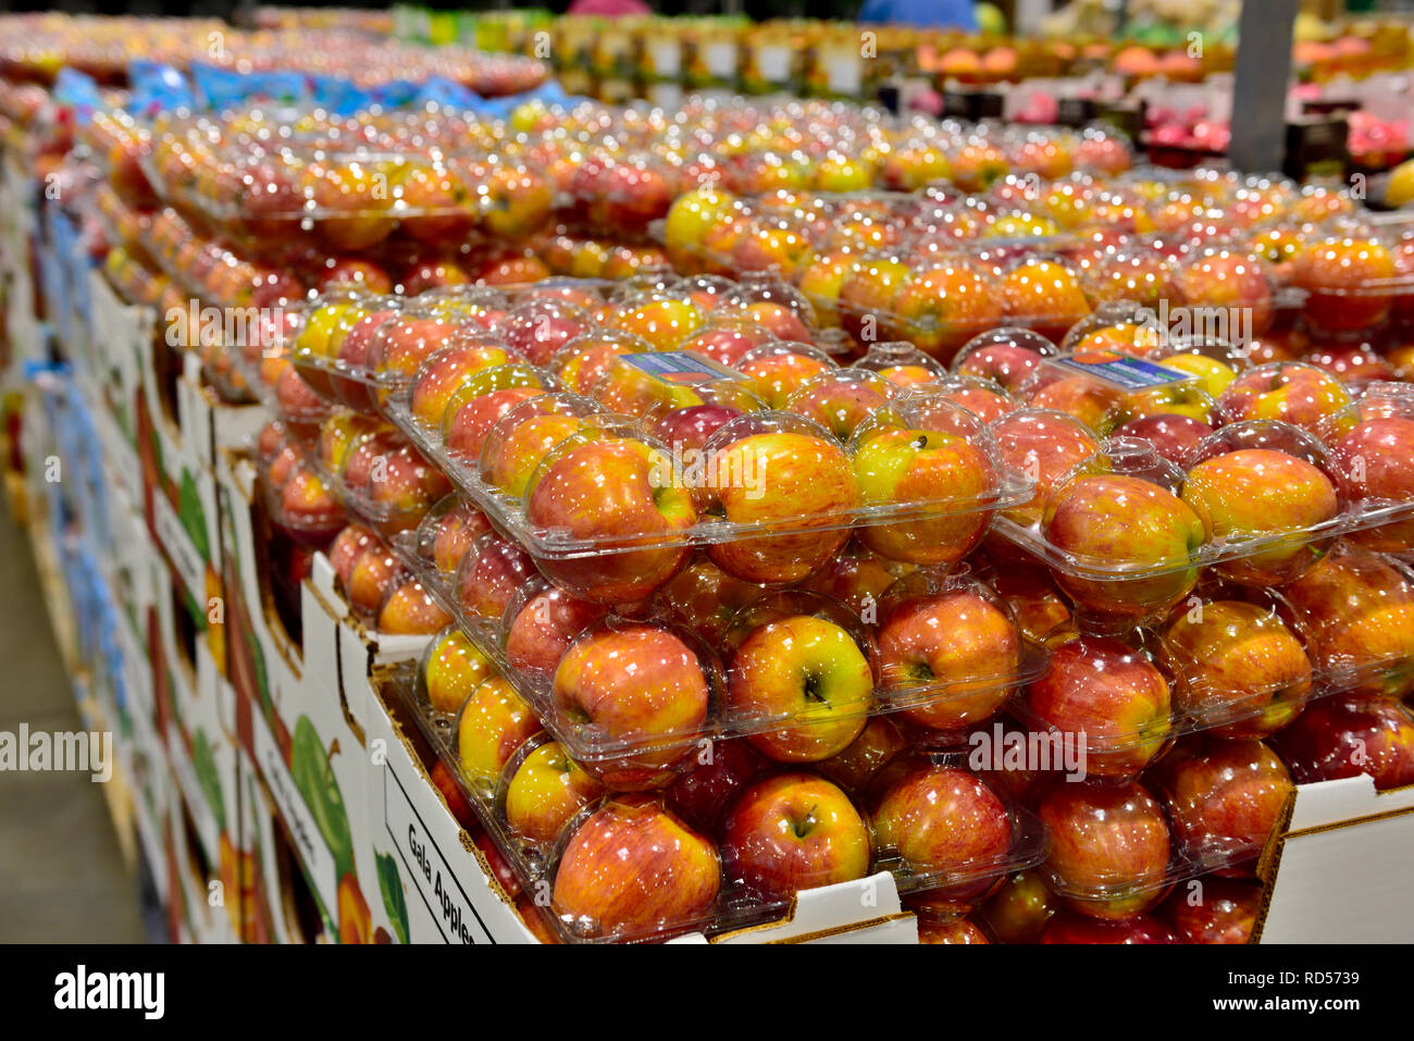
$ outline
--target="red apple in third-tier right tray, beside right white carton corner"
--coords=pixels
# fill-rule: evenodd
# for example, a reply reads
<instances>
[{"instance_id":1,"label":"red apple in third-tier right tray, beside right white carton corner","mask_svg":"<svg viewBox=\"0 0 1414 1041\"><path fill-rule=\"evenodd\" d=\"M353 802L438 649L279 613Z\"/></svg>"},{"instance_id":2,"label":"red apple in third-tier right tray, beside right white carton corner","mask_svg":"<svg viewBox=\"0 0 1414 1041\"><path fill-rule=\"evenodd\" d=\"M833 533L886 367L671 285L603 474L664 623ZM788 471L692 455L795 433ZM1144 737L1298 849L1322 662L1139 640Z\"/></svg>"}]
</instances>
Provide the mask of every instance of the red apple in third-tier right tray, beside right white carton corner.
<instances>
[{"instance_id":1,"label":"red apple in third-tier right tray, beside right white carton corner","mask_svg":"<svg viewBox=\"0 0 1414 1041\"><path fill-rule=\"evenodd\" d=\"M1291 774L1261 741L1181 741L1155 784L1174 837L1195 859L1222 861L1223 874L1256 874L1256 857L1275 833Z\"/></svg>"}]
</instances>

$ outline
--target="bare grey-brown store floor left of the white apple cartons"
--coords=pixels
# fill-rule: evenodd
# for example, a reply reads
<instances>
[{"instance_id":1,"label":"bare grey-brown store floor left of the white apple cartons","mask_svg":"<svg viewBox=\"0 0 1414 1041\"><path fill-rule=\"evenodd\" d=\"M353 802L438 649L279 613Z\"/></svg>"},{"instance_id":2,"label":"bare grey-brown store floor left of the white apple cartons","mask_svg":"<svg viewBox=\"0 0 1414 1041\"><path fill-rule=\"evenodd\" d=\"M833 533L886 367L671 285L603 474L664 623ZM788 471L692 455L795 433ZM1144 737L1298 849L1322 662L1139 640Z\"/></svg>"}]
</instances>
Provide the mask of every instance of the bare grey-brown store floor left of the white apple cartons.
<instances>
[{"instance_id":1,"label":"bare grey-brown store floor left of the white apple cartons","mask_svg":"<svg viewBox=\"0 0 1414 1041\"><path fill-rule=\"evenodd\" d=\"M78 730L24 529L0 509L0 730ZM0 774L0 942L147 939L139 884L86 774Z\"/></svg>"}]
</instances>

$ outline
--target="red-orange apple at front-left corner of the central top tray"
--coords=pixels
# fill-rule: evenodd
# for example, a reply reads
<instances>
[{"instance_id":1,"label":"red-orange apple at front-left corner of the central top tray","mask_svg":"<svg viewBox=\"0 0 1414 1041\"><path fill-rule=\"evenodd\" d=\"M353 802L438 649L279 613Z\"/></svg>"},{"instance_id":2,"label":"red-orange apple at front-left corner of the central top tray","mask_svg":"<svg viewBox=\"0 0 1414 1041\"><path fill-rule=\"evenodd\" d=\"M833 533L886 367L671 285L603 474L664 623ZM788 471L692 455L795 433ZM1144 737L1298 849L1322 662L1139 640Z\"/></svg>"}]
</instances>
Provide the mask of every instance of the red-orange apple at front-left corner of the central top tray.
<instances>
[{"instance_id":1,"label":"red-orange apple at front-left corner of the central top tray","mask_svg":"<svg viewBox=\"0 0 1414 1041\"><path fill-rule=\"evenodd\" d=\"M526 499L526 519L574 539L605 539L588 557L544 557L539 567L571 593L600 603L641 600L687 562L686 545L631 549L635 540L670 540L697 523L691 492L662 472L663 453L632 437L598 437L551 450Z\"/></svg>"}]
</instances>

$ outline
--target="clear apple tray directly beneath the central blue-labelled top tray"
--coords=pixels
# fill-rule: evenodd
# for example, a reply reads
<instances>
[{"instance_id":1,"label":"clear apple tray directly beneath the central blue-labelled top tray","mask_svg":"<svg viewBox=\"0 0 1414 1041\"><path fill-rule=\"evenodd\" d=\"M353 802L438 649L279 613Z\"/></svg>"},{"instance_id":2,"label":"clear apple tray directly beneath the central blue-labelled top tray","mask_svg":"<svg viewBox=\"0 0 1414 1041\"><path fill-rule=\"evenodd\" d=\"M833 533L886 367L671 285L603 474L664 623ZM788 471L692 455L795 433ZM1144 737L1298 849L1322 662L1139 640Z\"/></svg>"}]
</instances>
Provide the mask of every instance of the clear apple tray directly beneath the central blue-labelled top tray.
<instances>
[{"instance_id":1,"label":"clear apple tray directly beneath the central blue-labelled top tray","mask_svg":"<svg viewBox=\"0 0 1414 1041\"><path fill-rule=\"evenodd\" d=\"M936 744L939 734L988 719L1046 669L1046 651L1021 631L1007 603L966 573L895 578L885 562L861 554L853 560L858 569L772 593L700 557L646 604L615 610L534 574L530 559L464 502L444 504L393 547L563 744L605 775L611 764L621 764L614 767L621 778L680 765L683 750L703 737L748 734L771 744L761 737L771 730L781 731L783 761L803 751L822 758L878 713L896 713L899 726ZM863 614L822 591L851 581L857 590L868 583ZM939 634L949 625L969 639L945 651ZM789 656L792 641L834 648L841 668L833 679L822 672L829 690L771 689L766 662ZM645 703L643 719L629 723L573 689L577 659L602 662L619 644L643 648L645 658L656 648L665 661L691 661L691 669L663 666L667 682L674 672L696 677L694 686L679 687L677 709L658 713Z\"/></svg>"}]
</instances>

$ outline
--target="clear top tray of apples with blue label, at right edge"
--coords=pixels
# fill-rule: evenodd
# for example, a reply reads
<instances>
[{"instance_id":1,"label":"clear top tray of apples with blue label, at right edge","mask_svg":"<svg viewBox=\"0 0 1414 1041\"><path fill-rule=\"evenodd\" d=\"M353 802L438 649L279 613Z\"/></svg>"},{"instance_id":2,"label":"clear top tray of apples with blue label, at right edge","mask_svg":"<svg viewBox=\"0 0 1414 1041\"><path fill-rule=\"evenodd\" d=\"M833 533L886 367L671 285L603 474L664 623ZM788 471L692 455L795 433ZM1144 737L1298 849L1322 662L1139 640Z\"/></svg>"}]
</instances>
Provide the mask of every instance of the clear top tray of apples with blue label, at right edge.
<instances>
[{"instance_id":1,"label":"clear top tray of apples with blue label, at right edge","mask_svg":"<svg viewBox=\"0 0 1414 1041\"><path fill-rule=\"evenodd\" d=\"M1182 601L1199 569L1281 586L1342 536L1410 549L1414 495L1398 477L1414 444L1407 385L1373 383L1352 402L1332 376L1278 362L1213 402L1182 382L1127 390L1116 365L1168 379L1133 358L1048 359L1022 399L1068 412L1029 407L991 424L1005 463L1036 479L1032 501L994 530L1079 603L1144 618ZM1096 440L1096 427L1117 436Z\"/></svg>"}]
</instances>

